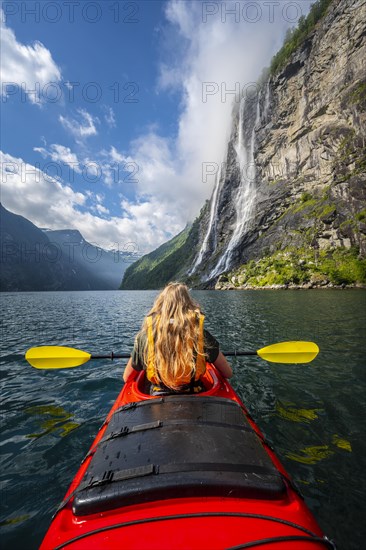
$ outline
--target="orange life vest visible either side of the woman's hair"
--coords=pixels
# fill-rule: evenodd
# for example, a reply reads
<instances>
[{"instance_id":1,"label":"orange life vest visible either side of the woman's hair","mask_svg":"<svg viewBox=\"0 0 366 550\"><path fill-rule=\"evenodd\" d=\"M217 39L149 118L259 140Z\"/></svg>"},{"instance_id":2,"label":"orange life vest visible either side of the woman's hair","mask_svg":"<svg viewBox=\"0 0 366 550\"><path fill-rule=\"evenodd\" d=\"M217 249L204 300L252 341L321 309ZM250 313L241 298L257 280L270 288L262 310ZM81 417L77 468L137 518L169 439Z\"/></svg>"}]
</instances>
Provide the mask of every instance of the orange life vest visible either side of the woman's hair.
<instances>
[{"instance_id":1,"label":"orange life vest visible either side of the woman's hair","mask_svg":"<svg viewBox=\"0 0 366 550\"><path fill-rule=\"evenodd\" d=\"M146 376L150 382L153 384L159 384L159 377L155 369L155 341L154 341L154 330L153 330L153 319L151 315L147 317L147 369ZM187 385L192 382L196 382L201 378L201 376L206 372L206 357L204 352L204 333L203 333L203 324L205 316L201 313L199 314L199 327L198 327L198 340L197 340L197 358L196 358L196 370L194 379L190 377L183 378L181 380L181 385ZM159 320L158 320L159 322Z\"/></svg>"}]
</instances>

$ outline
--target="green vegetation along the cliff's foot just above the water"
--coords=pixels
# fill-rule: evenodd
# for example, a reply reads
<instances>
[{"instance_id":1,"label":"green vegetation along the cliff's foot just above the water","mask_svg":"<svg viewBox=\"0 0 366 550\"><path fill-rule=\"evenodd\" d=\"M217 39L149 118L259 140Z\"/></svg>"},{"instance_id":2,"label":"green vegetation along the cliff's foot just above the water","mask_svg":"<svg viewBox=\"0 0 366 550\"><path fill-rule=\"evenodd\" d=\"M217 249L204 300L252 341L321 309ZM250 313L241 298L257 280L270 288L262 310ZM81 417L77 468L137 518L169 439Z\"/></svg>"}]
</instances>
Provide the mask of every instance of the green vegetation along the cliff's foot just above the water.
<instances>
[{"instance_id":1,"label":"green vegetation along the cliff's foot just above the water","mask_svg":"<svg viewBox=\"0 0 366 550\"><path fill-rule=\"evenodd\" d=\"M222 275L221 287L326 286L366 283L366 260L357 248L287 248Z\"/></svg>"}]
</instances>

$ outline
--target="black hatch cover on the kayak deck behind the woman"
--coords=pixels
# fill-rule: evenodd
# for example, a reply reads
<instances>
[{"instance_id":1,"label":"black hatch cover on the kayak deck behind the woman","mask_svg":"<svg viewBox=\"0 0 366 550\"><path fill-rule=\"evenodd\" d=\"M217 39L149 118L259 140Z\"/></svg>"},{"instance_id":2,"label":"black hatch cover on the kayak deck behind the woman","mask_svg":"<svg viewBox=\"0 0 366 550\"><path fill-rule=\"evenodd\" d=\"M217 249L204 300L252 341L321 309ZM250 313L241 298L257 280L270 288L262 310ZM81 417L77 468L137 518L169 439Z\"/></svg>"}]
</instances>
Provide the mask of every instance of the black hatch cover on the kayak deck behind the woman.
<instances>
[{"instance_id":1,"label":"black hatch cover on the kayak deck behind the woman","mask_svg":"<svg viewBox=\"0 0 366 550\"><path fill-rule=\"evenodd\" d=\"M222 397L125 405L92 453L76 516L192 496L273 499L286 490L240 406Z\"/></svg>"}]
</instances>

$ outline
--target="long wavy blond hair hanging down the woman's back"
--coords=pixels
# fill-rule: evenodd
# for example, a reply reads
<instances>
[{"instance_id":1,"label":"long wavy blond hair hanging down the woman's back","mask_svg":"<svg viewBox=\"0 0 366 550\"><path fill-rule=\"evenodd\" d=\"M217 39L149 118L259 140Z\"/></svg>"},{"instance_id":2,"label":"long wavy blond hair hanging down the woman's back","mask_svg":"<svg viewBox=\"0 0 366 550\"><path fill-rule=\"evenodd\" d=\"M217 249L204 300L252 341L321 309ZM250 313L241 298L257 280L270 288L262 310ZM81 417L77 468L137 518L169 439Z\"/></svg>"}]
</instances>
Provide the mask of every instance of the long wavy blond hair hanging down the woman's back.
<instances>
[{"instance_id":1,"label":"long wavy blond hair hanging down the woman's back","mask_svg":"<svg viewBox=\"0 0 366 550\"><path fill-rule=\"evenodd\" d=\"M200 306L186 285L169 283L155 299L152 316L155 342L155 375L166 387L177 390L196 372ZM148 333L145 317L140 334ZM148 339L144 361L148 363ZM184 383L184 382L183 382Z\"/></svg>"}]
</instances>

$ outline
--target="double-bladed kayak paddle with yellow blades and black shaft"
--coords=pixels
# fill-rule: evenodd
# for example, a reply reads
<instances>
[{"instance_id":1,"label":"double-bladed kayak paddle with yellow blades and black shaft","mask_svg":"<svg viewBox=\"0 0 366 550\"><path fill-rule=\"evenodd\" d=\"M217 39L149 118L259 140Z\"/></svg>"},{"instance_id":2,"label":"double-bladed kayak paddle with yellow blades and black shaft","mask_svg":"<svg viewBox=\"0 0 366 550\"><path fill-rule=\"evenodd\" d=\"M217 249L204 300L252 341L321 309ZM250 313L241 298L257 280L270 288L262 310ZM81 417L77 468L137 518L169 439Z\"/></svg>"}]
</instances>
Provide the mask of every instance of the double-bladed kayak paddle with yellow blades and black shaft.
<instances>
[{"instance_id":1,"label":"double-bladed kayak paddle with yellow blades and black shaft","mask_svg":"<svg viewBox=\"0 0 366 550\"><path fill-rule=\"evenodd\" d=\"M272 363L310 363L319 353L314 342L280 342L257 351L226 351L228 357L258 355ZM128 359L130 353L91 355L86 351L62 346L40 346L31 348L25 358L36 369L67 369L79 367L90 359Z\"/></svg>"}]
</instances>

